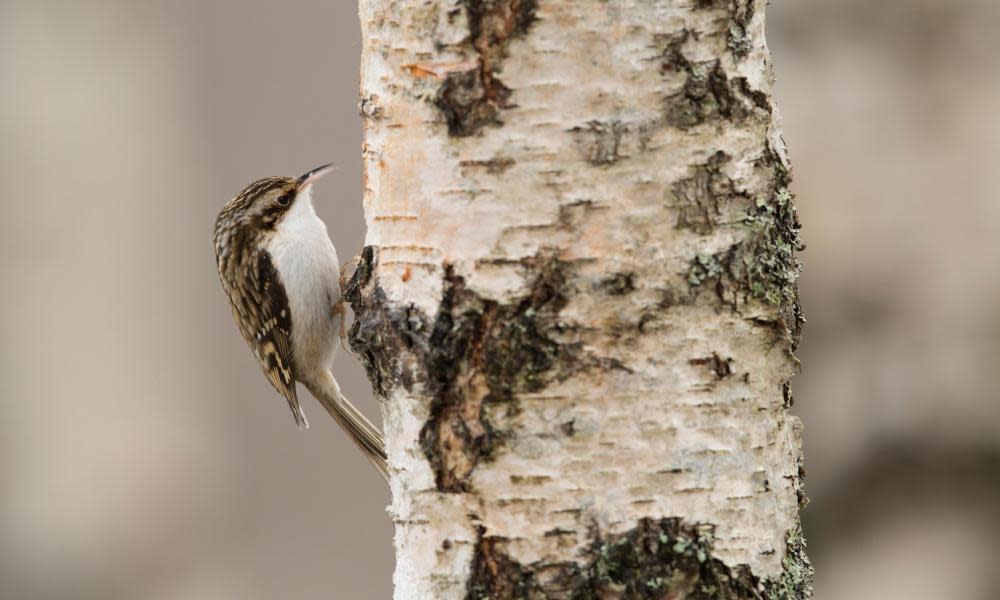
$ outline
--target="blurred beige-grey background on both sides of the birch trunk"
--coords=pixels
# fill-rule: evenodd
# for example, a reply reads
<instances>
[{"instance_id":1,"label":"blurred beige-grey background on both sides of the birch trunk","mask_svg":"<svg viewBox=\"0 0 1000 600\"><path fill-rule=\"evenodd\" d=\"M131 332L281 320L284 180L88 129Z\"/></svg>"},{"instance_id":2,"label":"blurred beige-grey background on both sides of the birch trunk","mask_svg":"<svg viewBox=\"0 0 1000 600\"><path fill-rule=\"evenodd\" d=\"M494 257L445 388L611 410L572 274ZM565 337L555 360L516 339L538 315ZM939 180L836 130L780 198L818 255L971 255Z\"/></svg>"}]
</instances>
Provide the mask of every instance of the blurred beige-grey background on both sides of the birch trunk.
<instances>
[{"instance_id":1,"label":"blurred beige-grey background on both sides of the birch trunk","mask_svg":"<svg viewBox=\"0 0 1000 600\"><path fill-rule=\"evenodd\" d=\"M768 11L816 598L995 599L1000 4ZM390 597L384 485L311 399L295 429L211 246L243 185L336 161L360 247L359 52L354 2L0 0L0 598Z\"/></svg>"}]
</instances>

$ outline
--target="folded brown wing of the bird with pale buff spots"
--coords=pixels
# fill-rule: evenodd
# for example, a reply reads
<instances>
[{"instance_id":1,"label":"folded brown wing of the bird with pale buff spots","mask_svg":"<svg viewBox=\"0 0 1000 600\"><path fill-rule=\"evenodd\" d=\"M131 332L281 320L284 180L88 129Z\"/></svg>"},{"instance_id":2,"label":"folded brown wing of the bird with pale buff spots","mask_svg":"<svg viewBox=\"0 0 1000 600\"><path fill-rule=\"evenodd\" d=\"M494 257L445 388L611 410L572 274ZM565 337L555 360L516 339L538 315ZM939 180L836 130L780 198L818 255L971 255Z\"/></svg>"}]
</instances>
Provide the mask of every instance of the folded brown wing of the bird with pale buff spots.
<instances>
[{"instance_id":1,"label":"folded brown wing of the bird with pale buff spots","mask_svg":"<svg viewBox=\"0 0 1000 600\"><path fill-rule=\"evenodd\" d=\"M292 356L292 311L281 276L266 250L253 257L247 293L251 306L256 307L256 319L250 319L256 329L244 332L253 346L257 360L274 389L288 400L299 427L308 427L295 394L294 357Z\"/></svg>"}]
</instances>

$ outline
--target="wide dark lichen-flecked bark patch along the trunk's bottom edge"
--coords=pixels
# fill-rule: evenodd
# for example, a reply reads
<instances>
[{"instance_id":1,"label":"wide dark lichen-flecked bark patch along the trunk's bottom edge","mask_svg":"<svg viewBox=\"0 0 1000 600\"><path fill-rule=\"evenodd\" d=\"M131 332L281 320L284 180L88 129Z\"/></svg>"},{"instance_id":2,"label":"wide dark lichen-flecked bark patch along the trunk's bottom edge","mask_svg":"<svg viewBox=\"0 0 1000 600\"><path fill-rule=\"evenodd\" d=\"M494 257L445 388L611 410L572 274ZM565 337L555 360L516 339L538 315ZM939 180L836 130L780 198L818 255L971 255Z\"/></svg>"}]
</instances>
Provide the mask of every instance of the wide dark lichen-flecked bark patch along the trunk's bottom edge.
<instances>
[{"instance_id":1,"label":"wide dark lichen-flecked bark patch along the trunk's bottom edge","mask_svg":"<svg viewBox=\"0 0 1000 600\"><path fill-rule=\"evenodd\" d=\"M506 540L479 537L466 598L502 600L804 600L812 568L801 530L789 533L785 571L761 581L745 566L713 556L711 527L680 519L643 519L632 530L597 536L580 563L523 565L505 552Z\"/></svg>"}]
</instances>

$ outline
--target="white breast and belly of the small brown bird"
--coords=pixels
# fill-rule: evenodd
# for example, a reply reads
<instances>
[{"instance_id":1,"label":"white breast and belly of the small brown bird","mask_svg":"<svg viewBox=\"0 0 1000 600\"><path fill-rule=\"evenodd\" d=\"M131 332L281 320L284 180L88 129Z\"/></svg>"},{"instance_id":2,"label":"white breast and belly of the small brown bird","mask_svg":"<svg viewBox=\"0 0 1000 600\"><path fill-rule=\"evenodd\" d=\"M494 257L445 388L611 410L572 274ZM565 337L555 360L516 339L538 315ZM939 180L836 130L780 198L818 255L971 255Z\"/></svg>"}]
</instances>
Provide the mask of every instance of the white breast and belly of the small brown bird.
<instances>
[{"instance_id":1,"label":"white breast and belly of the small brown bird","mask_svg":"<svg viewBox=\"0 0 1000 600\"><path fill-rule=\"evenodd\" d=\"M340 263L308 189L278 223L267 250L288 296L296 376L330 368L339 339L331 310L340 301Z\"/></svg>"}]
</instances>

